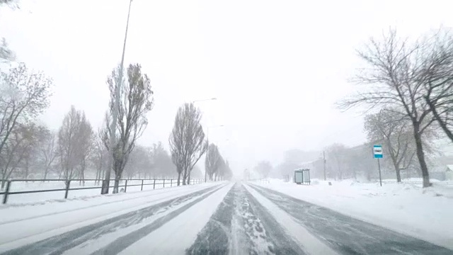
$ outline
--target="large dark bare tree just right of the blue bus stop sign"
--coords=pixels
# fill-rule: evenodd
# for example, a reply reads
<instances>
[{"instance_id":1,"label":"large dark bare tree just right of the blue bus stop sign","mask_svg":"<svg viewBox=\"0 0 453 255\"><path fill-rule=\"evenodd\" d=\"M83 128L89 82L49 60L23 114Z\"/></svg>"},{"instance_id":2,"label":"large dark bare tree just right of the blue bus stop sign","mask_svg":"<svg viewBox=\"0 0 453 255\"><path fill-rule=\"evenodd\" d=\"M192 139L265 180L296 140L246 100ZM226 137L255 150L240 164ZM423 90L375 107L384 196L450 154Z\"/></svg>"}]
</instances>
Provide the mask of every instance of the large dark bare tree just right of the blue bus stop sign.
<instances>
[{"instance_id":1,"label":"large dark bare tree just right of the blue bus stop sign","mask_svg":"<svg viewBox=\"0 0 453 255\"><path fill-rule=\"evenodd\" d=\"M359 57L369 68L361 69L354 81L373 84L373 87L340 103L342 108L364 103L370 107L388 106L398 111L398 114L407 116L413 128L423 187L430 186L423 135L435 121L426 96L432 98L430 95L440 87L443 89L437 91L435 98L445 98L451 92L448 88L451 86L452 73L443 72L445 65L440 64L447 61L444 60L447 56L433 53L452 47L451 41L439 40L440 34L435 33L411 43L398 38L396 30L390 30L383 40L371 39L365 50L358 51Z\"/></svg>"}]
</instances>

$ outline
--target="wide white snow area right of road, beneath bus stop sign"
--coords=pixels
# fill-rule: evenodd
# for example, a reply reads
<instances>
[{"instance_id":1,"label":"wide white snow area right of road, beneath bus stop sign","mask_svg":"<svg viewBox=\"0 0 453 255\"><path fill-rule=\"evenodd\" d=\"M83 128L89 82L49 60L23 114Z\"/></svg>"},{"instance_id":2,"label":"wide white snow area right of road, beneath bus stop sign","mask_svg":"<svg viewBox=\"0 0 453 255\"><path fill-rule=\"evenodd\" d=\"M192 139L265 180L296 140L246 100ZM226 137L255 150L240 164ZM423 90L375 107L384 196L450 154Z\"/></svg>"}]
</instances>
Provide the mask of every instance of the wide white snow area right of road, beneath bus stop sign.
<instances>
[{"instance_id":1,"label":"wide white snow area right of road, beneath bus stop sign","mask_svg":"<svg viewBox=\"0 0 453 255\"><path fill-rule=\"evenodd\" d=\"M285 193L396 232L453 249L453 186L435 182L430 188L414 183L357 183L312 180L304 186L276 179L257 181Z\"/></svg>"}]
</instances>

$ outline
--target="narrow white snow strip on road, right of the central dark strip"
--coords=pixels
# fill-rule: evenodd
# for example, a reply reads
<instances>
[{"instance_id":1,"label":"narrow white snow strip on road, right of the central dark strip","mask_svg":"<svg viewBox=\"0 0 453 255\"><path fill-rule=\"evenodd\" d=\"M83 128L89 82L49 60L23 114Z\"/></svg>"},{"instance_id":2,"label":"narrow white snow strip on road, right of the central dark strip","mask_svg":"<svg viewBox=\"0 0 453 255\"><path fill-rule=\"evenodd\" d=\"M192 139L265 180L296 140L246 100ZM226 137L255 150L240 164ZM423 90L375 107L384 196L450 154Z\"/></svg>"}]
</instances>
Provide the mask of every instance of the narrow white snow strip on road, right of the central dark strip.
<instances>
[{"instance_id":1,"label":"narrow white snow strip on road, right of the central dark strip","mask_svg":"<svg viewBox=\"0 0 453 255\"><path fill-rule=\"evenodd\" d=\"M268 198L260 195L253 188L246 186L247 190L258 200L258 202L267 208L271 215L277 220L277 222L287 229L287 232L290 236L296 239L299 244L302 244L301 247L308 254L337 254L329 246L321 242L319 239L314 237L310 232L302 227L298 222L296 222L290 215L288 215L284 210L278 208L277 205L272 203Z\"/></svg>"}]
</instances>

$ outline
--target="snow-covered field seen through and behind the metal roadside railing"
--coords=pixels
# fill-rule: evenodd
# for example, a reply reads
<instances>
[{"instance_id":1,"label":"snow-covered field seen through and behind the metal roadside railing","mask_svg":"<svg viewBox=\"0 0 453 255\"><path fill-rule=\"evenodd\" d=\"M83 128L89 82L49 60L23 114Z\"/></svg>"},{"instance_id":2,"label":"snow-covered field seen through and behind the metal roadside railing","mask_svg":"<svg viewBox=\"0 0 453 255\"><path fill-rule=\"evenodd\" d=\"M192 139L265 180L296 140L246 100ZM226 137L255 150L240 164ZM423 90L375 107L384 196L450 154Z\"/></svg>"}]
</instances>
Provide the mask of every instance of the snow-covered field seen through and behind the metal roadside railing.
<instances>
[{"instance_id":1,"label":"snow-covered field seen through and behind the metal roadside railing","mask_svg":"<svg viewBox=\"0 0 453 255\"><path fill-rule=\"evenodd\" d=\"M113 184L113 181L112 181ZM163 180L144 180L143 191L149 191L152 189L164 188ZM132 186L134 185L134 186ZM165 188L176 186L176 179L166 180ZM11 183L10 192L16 191L41 191L50 189L65 188L64 181L13 181ZM101 183L95 183L94 181L86 181L84 184L79 181L72 181L70 188L91 188L85 190L69 191L68 198L86 198L91 196L98 196L101 193ZM120 189L125 188L125 181L120 183ZM142 188L142 181L134 180L127 181L127 193L140 191ZM110 188L112 193L113 188ZM1 195L3 199L3 195ZM8 196L8 205L17 205L23 203L42 203L48 200L62 201L64 200L64 191L50 191L40 193L25 193L25 194L10 194ZM0 205L1 206L1 205Z\"/></svg>"}]
</instances>

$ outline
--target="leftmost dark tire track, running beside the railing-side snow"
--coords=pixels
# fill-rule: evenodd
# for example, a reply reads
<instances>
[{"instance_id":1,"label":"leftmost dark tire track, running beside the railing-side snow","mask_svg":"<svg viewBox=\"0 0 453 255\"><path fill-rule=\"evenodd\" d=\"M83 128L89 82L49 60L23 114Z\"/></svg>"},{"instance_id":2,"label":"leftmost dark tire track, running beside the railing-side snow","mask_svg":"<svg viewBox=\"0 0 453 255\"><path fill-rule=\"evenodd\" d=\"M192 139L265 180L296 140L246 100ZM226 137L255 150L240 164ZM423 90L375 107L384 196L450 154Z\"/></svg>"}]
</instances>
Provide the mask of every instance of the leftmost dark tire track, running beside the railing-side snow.
<instances>
[{"instance_id":1,"label":"leftmost dark tire track, running beside the railing-side snow","mask_svg":"<svg viewBox=\"0 0 453 255\"><path fill-rule=\"evenodd\" d=\"M63 254L64 251L83 244L84 242L96 239L103 236L104 234L120 231L125 227L137 225L158 212L161 213L167 210L171 210L171 208L179 205L180 203L184 203L185 201L196 198L197 196L202 196L203 194L210 194L222 187L223 186L214 186L202 189L201 191L195 191L194 193L190 193L188 195L173 198L171 200L166 200L162 203L157 203L146 208L134 210L132 212L127 212L123 215L118 215L108 220L103 220L92 225L80 227L78 229L65 232L64 234L35 242L33 244L27 244L16 249L11 249L9 251L5 251L2 254Z\"/></svg>"}]
</instances>

